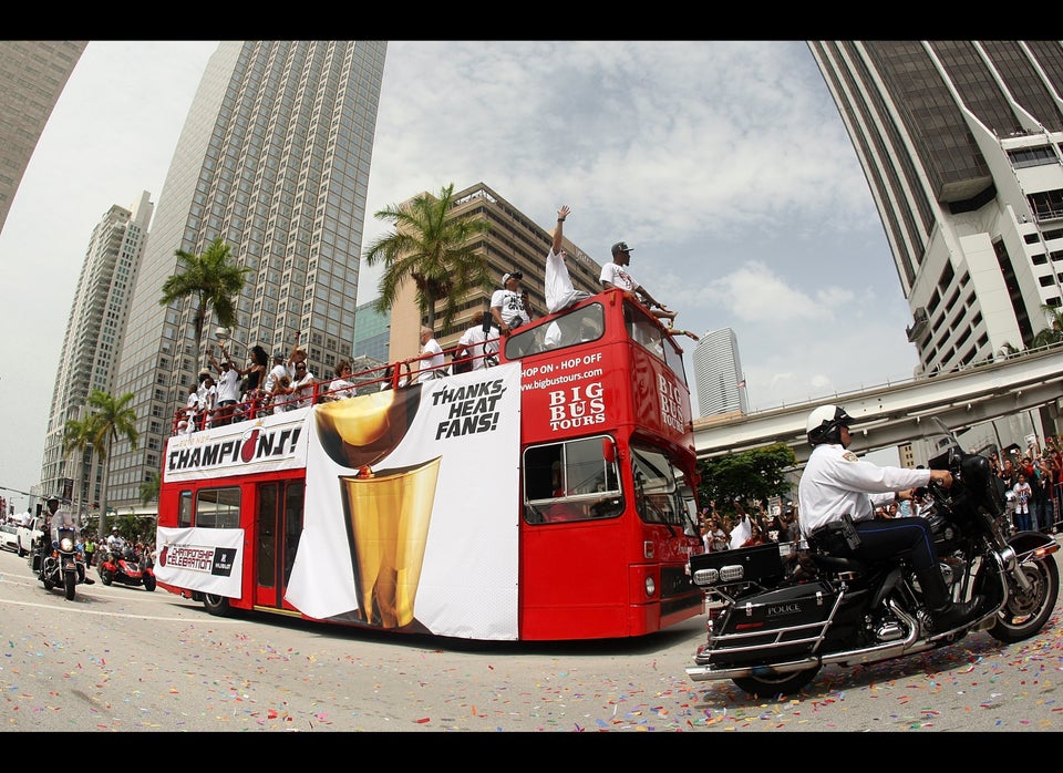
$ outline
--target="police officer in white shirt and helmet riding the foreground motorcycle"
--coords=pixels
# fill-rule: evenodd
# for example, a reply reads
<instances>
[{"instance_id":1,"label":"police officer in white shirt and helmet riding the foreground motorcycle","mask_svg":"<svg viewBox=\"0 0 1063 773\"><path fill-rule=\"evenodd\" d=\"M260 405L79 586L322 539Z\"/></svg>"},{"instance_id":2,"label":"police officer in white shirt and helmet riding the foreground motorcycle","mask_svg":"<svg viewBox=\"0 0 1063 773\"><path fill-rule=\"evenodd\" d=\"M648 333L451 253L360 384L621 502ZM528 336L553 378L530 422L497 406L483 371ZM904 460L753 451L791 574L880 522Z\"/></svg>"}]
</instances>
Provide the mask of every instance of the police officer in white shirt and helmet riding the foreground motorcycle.
<instances>
[{"instance_id":1,"label":"police officer in white shirt and helmet riding the foreground motorcycle","mask_svg":"<svg viewBox=\"0 0 1063 773\"><path fill-rule=\"evenodd\" d=\"M845 409L821 405L808 414L806 433L812 454L797 485L797 511L802 535L828 553L878 561L904 558L912 567L930 611L930 625L941 632L978 617L983 597L953 601L938 566L933 537L925 518L875 518L879 505L910 498L914 489L936 483L952 485L948 470L879 466L848 451L853 418ZM829 524L848 515L859 537L850 547L830 537Z\"/></svg>"}]
</instances>

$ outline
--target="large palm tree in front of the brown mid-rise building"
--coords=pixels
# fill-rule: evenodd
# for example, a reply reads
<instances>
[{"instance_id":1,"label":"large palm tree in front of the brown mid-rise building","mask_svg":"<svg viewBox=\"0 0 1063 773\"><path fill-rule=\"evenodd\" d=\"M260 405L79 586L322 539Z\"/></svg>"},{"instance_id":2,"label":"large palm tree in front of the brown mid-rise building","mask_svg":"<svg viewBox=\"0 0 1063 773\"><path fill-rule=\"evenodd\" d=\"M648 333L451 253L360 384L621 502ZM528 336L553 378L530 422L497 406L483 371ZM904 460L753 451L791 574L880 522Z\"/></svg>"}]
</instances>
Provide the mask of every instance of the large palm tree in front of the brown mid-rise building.
<instances>
[{"instance_id":1,"label":"large palm tree in front of the brown mid-rise building","mask_svg":"<svg viewBox=\"0 0 1063 773\"><path fill-rule=\"evenodd\" d=\"M450 327L460 310L460 302L476 287L491 287L487 257L468 245L473 236L485 234L487 220L454 218L454 184L440 190L436 198L423 193L409 206L391 205L375 213L380 220L391 220L395 230L376 239L365 252L365 262L384 265L374 307L381 313L391 309L406 279L416 286L417 307L435 327L435 302L446 300L443 324Z\"/></svg>"}]
</instances>

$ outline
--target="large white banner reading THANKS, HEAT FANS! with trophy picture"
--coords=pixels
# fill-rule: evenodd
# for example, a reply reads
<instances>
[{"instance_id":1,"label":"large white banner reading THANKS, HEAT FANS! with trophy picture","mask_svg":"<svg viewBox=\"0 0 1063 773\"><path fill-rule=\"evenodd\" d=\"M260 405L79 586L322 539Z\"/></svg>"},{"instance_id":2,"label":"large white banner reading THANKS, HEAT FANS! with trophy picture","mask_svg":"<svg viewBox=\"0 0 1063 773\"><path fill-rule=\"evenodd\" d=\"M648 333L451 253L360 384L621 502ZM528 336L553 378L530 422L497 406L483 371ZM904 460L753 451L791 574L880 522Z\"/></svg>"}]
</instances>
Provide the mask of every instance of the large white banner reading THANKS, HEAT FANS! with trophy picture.
<instances>
[{"instance_id":1,"label":"large white banner reading THANKS, HEAT FANS! with trophy picture","mask_svg":"<svg viewBox=\"0 0 1063 773\"><path fill-rule=\"evenodd\" d=\"M520 364L390 393L316 406L308 421L286 600L318 619L516 639Z\"/></svg>"}]
</instances>

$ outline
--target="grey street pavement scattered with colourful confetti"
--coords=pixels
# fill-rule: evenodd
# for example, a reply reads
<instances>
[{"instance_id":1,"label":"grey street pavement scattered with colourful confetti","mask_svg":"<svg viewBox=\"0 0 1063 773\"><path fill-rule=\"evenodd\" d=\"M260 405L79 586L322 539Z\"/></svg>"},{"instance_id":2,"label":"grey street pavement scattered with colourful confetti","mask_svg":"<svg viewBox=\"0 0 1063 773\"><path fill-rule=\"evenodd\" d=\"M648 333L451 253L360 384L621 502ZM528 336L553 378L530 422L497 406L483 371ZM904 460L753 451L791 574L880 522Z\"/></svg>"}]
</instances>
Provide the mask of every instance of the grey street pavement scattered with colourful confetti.
<instances>
[{"instance_id":1,"label":"grey street pavement scattered with colourful confetti","mask_svg":"<svg viewBox=\"0 0 1063 773\"><path fill-rule=\"evenodd\" d=\"M1057 556L1059 557L1059 556ZM93 577L95 577L95 570ZM84 732L1045 731L1063 729L1063 625L977 633L874 666L827 667L799 698L692 682L698 617L637 640L468 642L251 615L165 590L45 591L0 553L0 726ZM709 748L704 748L709 749Z\"/></svg>"}]
</instances>

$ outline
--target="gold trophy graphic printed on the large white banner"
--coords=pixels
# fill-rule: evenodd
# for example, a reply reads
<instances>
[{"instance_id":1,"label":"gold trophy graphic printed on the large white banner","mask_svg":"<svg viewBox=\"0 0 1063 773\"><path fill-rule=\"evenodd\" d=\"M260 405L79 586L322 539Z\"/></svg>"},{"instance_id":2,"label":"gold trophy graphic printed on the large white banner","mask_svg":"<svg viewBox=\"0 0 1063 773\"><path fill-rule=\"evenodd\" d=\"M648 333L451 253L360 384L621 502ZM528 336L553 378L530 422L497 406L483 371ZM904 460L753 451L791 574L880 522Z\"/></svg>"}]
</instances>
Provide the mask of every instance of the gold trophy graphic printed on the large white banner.
<instances>
[{"instance_id":1,"label":"gold trophy graphic printed on the large white banner","mask_svg":"<svg viewBox=\"0 0 1063 773\"><path fill-rule=\"evenodd\" d=\"M340 475L344 524L354 567L358 617L376 628L403 628L413 616L440 458L373 470L394 451L416 415L421 385L373 392L314 408L329 457L353 467Z\"/></svg>"}]
</instances>

